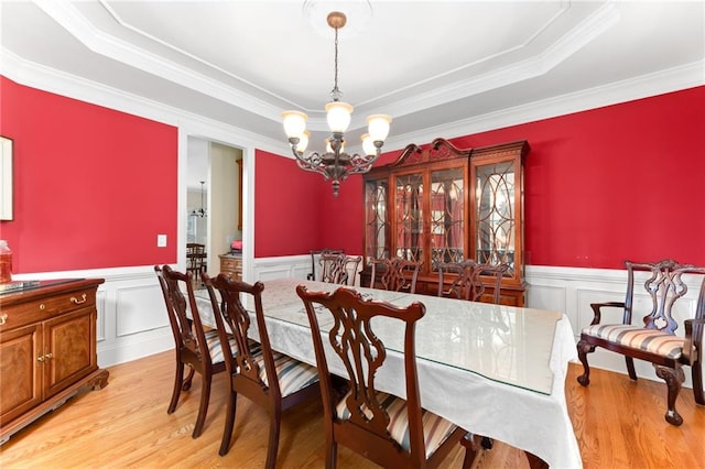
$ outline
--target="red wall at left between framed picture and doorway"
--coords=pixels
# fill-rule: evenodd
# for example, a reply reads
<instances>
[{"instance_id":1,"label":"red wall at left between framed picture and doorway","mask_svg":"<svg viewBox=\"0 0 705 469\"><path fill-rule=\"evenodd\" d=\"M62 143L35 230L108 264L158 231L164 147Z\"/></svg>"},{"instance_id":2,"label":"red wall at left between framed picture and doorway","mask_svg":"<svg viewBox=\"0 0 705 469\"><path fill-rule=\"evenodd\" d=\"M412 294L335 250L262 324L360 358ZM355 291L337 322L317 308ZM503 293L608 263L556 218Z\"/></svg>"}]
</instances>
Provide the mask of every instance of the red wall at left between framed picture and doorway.
<instances>
[{"instance_id":1,"label":"red wall at left between framed picture and doorway","mask_svg":"<svg viewBox=\"0 0 705 469\"><path fill-rule=\"evenodd\" d=\"M13 272L176 262L177 130L0 77ZM156 248L156 234L167 248Z\"/></svg>"}]
</instances>

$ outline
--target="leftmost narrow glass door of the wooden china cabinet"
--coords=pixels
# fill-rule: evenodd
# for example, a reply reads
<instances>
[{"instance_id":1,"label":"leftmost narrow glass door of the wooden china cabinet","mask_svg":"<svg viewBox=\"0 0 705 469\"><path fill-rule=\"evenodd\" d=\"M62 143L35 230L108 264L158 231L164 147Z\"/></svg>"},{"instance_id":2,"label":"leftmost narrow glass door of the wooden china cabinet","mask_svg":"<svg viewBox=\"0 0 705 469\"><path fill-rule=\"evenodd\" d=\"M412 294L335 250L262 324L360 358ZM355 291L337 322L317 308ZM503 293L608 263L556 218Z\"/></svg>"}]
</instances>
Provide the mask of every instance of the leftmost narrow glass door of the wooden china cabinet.
<instances>
[{"instance_id":1,"label":"leftmost narrow glass door of the wooden china cabinet","mask_svg":"<svg viewBox=\"0 0 705 469\"><path fill-rule=\"evenodd\" d=\"M387 178L365 182L365 257L368 260L389 259L388 198Z\"/></svg>"}]
</instances>

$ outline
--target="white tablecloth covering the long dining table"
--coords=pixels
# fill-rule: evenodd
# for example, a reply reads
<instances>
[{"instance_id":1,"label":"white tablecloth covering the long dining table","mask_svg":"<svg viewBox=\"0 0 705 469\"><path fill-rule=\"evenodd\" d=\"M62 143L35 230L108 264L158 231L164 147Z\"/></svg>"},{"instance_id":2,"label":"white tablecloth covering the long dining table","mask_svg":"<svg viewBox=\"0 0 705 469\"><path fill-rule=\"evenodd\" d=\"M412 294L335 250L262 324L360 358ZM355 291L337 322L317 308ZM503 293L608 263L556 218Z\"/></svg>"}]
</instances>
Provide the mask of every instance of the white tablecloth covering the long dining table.
<instances>
[{"instance_id":1,"label":"white tablecloth covering the long dining table","mask_svg":"<svg viewBox=\"0 0 705 469\"><path fill-rule=\"evenodd\" d=\"M262 303L264 314L269 315L267 327L272 347L278 351L315 366L311 329L307 327L303 303L295 293L295 285L301 283L307 285L310 290L332 291L338 286L294 279L268 281L264 282ZM412 299L420 298L423 302L426 298L426 316L417 325L417 343L423 340L423 336L419 334L423 329L422 321L434 320L434 310L438 307L438 299L431 299L431 297L421 295L410 296L397 292L358 290L373 292L371 294L376 298L400 305L406 305ZM204 298L207 298L207 294L204 295ZM453 299L448 301L455 302ZM463 303L466 305L462 306L467 307L468 302ZM213 314L209 302L198 299L198 306L202 320L208 324L208 315ZM431 309L431 306L434 306L434 309ZM501 308L502 312L508 313L510 316L514 315L523 318L521 321L514 321L517 323L514 328L518 328L518 330L514 330L516 341L521 341L517 338L521 336L524 328L530 327L532 321L530 315L539 312L535 309L487 305L487 307L490 306ZM468 432L488 436L530 451L542 458L551 467L581 468L583 466L581 452L567 413L564 393L567 363L571 360L575 360L577 353L573 330L567 317L562 314L556 317L558 317L558 320L555 323L552 346L545 345L545 351L536 352L539 364L541 364L541 353L543 353L547 363L543 367L536 367L534 357L525 361L527 366L532 370L546 368L552 372L552 381L549 381L550 393L524 389L517 385L517 383L499 382L496 379L488 379L478 372L468 371L458 366L449 366L438 360L419 357L417 353L416 363L423 407L447 418ZM546 340L550 339L549 337ZM541 347L532 347L527 352L533 355L534 348L541 349ZM393 349L388 350L387 360L386 366L378 372L376 383L383 391L404 396L402 356ZM521 368L521 361L514 363L514 367ZM335 360L329 360L329 366L333 372L344 374L343 369L335 369Z\"/></svg>"}]
</instances>

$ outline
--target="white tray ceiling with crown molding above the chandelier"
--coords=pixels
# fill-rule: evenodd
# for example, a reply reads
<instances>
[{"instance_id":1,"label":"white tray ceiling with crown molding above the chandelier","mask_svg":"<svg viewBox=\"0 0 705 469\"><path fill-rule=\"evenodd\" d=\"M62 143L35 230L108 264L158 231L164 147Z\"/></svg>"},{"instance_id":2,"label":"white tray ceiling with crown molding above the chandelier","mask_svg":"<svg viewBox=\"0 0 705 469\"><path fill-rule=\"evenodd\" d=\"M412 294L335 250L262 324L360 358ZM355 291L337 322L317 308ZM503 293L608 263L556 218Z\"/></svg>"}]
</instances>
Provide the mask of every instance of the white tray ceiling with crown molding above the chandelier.
<instances>
[{"instance_id":1,"label":"white tray ceiling with crown molding above the chandelier","mask_svg":"<svg viewBox=\"0 0 705 469\"><path fill-rule=\"evenodd\" d=\"M393 117L399 148L653 74L705 83L703 1L0 1L3 75L52 70L282 142L286 109L308 113L312 142L325 138L334 9L349 17L339 88L355 106L350 142L371 113Z\"/></svg>"}]
</instances>

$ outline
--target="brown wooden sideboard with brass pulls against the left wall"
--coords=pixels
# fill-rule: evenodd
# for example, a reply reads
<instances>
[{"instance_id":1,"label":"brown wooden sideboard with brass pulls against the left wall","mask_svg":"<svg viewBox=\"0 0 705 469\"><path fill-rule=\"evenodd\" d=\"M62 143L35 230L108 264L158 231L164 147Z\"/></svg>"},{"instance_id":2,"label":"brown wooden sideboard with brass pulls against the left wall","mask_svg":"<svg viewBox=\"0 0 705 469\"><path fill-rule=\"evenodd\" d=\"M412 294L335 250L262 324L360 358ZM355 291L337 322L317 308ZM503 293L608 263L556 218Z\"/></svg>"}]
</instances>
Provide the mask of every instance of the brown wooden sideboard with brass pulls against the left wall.
<instances>
[{"instance_id":1,"label":"brown wooden sideboard with brass pulls against the left wall","mask_svg":"<svg viewBox=\"0 0 705 469\"><path fill-rule=\"evenodd\" d=\"M42 281L0 294L0 444L80 388L108 384L96 351L101 283Z\"/></svg>"}]
</instances>

